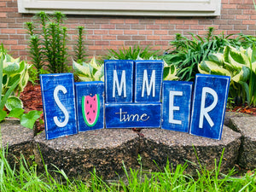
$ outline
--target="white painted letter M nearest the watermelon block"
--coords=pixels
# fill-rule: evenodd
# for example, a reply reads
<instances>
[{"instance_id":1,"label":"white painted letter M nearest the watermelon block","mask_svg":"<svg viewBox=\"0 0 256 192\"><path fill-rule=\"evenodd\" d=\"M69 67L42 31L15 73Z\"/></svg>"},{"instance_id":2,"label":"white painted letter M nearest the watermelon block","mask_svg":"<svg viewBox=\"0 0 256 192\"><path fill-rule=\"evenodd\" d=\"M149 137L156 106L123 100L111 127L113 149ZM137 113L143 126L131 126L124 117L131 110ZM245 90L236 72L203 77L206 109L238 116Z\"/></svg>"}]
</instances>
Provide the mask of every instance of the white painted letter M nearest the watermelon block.
<instances>
[{"instance_id":1,"label":"white painted letter M nearest the watermelon block","mask_svg":"<svg viewBox=\"0 0 256 192\"><path fill-rule=\"evenodd\" d=\"M117 86L119 96L122 95L122 90L124 87L124 97L126 97L125 70L122 71L121 84L119 84L119 79L116 70L113 70L113 97L115 97L115 84Z\"/></svg>"}]
</instances>

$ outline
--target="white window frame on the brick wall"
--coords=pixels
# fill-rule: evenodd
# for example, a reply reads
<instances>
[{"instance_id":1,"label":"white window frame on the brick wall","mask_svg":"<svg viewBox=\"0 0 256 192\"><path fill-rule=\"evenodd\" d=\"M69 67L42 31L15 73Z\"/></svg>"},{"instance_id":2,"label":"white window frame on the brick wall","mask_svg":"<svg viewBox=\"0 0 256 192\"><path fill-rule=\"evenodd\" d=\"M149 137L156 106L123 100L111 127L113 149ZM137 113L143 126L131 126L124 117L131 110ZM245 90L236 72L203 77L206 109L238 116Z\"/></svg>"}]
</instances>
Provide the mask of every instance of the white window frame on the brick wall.
<instances>
[{"instance_id":1,"label":"white window frame on the brick wall","mask_svg":"<svg viewBox=\"0 0 256 192\"><path fill-rule=\"evenodd\" d=\"M216 16L221 0L18 0L19 13L67 15Z\"/></svg>"}]
</instances>

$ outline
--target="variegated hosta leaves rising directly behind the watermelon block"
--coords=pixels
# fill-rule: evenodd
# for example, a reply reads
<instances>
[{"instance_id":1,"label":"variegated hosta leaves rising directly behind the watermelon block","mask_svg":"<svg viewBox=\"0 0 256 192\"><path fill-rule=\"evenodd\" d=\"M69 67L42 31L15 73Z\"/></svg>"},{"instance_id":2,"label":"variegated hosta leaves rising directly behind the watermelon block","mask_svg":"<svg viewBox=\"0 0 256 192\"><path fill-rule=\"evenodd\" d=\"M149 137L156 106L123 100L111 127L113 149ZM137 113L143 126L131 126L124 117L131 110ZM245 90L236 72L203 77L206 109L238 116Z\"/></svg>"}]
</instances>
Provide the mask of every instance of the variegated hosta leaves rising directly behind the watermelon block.
<instances>
[{"instance_id":1,"label":"variegated hosta leaves rising directly behind the watermelon block","mask_svg":"<svg viewBox=\"0 0 256 192\"><path fill-rule=\"evenodd\" d=\"M97 64L95 57L89 63L73 61L73 70L81 81L104 81L104 65Z\"/></svg>"}]
</instances>

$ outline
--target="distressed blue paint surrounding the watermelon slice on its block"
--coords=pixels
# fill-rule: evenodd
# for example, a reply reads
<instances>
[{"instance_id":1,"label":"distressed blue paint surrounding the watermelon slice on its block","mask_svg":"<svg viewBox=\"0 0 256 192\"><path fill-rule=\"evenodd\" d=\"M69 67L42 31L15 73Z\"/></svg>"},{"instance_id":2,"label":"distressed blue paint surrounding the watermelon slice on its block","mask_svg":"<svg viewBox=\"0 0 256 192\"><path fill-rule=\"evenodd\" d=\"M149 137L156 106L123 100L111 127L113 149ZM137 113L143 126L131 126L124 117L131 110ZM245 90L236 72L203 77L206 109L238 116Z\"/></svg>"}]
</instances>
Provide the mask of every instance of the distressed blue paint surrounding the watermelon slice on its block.
<instances>
[{"instance_id":1,"label":"distressed blue paint surrounding the watermelon slice on its block","mask_svg":"<svg viewBox=\"0 0 256 192\"><path fill-rule=\"evenodd\" d=\"M102 81L79 82L75 83L76 108L78 116L79 131L90 131L104 128L104 83ZM86 125L82 111L83 96L95 96L98 94L100 98L100 113L93 126Z\"/></svg>"}]
</instances>

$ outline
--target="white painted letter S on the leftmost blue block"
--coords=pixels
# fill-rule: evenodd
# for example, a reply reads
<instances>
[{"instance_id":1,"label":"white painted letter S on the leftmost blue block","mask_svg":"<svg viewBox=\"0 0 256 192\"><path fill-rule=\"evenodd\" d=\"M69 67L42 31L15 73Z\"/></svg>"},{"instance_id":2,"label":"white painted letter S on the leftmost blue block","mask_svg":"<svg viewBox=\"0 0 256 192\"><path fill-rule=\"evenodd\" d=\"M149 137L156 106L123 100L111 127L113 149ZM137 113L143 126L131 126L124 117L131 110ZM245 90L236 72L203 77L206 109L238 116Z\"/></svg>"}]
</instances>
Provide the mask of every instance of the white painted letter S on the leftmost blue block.
<instances>
[{"instance_id":1,"label":"white painted letter S on the leftmost blue block","mask_svg":"<svg viewBox=\"0 0 256 192\"><path fill-rule=\"evenodd\" d=\"M69 115L68 115L68 112L67 112L67 108L65 108L65 107L61 104L60 99L59 99L59 97L58 97L58 92L59 92L60 90L63 92L63 94L66 94L66 93L67 93L67 89L66 89L64 86L58 85L58 86L56 86L55 91L54 91L54 98L55 98L55 102L56 102L57 106L58 106L59 108L61 108L61 111L64 113L64 115L65 115L65 120L61 123L61 122L59 121L59 119L55 116L55 117L54 117L54 121L55 121L55 125L57 125L58 127L63 127L63 126L66 126L66 125L67 125L67 122L68 122L68 119L69 119Z\"/></svg>"}]
</instances>

